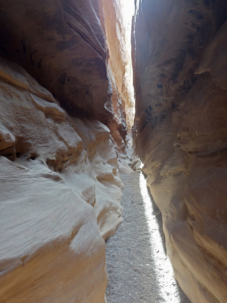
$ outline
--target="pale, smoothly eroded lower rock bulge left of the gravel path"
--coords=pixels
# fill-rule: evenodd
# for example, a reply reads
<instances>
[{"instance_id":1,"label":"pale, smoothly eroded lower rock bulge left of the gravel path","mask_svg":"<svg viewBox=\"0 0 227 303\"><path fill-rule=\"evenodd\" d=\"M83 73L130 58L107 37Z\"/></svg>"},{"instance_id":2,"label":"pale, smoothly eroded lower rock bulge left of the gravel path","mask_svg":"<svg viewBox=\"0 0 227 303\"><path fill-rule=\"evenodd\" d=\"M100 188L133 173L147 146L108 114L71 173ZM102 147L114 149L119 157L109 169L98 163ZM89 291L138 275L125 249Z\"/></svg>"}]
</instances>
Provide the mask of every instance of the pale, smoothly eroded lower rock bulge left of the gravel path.
<instances>
[{"instance_id":1,"label":"pale, smoothly eroded lower rock bulge left of the gravel path","mask_svg":"<svg viewBox=\"0 0 227 303\"><path fill-rule=\"evenodd\" d=\"M104 302L105 244L122 221L109 129L70 118L1 59L1 302Z\"/></svg>"}]
</instances>

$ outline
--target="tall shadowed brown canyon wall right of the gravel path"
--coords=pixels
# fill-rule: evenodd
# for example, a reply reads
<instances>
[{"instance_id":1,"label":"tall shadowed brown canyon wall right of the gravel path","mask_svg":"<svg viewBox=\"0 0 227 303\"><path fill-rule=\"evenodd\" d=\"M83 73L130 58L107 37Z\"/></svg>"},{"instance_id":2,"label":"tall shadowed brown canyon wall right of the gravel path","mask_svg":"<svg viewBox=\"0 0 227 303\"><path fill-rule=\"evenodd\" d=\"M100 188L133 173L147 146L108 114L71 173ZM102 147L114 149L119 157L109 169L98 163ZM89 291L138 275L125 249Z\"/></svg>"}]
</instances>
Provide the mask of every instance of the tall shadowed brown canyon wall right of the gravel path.
<instances>
[{"instance_id":1,"label":"tall shadowed brown canyon wall right of the gravel path","mask_svg":"<svg viewBox=\"0 0 227 303\"><path fill-rule=\"evenodd\" d=\"M167 254L192 302L225 302L225 1L137 1L137 153L162 213Z\"/></svg>"}]
</instances>

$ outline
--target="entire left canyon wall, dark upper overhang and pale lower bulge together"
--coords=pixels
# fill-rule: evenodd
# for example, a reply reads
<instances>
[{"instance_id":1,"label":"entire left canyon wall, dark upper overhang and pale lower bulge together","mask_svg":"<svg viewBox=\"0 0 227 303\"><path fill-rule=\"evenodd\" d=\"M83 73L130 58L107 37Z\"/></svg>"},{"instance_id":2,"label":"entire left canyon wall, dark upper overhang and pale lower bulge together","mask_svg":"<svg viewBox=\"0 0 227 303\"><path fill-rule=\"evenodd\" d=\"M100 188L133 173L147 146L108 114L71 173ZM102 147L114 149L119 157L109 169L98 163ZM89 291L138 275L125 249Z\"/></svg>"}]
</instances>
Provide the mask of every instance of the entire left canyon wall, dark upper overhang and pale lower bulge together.
<instances>
[{"instance_id":1,"label":"entire left canyon wall, dark upper overhang and pale lower bulge together","mask_svg":"<svg viewBox=\"0 0 227 303\"><path fill-rule=\"evenodd\" d=\"M105 302L127 125L102 1L0 1L0 16L0 300Z\"/></svg>"}]
</instances>

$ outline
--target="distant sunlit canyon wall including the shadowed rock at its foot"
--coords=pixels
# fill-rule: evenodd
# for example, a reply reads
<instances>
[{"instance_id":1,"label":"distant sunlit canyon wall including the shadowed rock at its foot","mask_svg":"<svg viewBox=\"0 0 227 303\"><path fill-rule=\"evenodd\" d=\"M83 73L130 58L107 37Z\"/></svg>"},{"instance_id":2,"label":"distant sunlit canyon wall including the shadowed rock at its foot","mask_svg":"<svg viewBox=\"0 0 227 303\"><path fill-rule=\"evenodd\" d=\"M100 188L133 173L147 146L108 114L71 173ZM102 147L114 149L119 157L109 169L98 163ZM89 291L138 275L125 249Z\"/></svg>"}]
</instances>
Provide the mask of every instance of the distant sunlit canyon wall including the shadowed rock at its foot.
<instances>
[{"instance_id":1,"label":"distant sunlit canyon wall including the shadowed rock at its foot","mask_svg":"<svg viewBox=\"0 0 227 303\"><path fill-rule=\"evenodd\" d=\"M112 84L112 107L115 112L115 117L109 123L109 129L117 142L117 152L123 165L127 161L127 156L124 156L127 144L122 124L125 121L125 131L132 127L135 108L130 44L126 35L122 0L103 1L103 11L109 51L107 69Z\"/></svg>"}]
</instances>

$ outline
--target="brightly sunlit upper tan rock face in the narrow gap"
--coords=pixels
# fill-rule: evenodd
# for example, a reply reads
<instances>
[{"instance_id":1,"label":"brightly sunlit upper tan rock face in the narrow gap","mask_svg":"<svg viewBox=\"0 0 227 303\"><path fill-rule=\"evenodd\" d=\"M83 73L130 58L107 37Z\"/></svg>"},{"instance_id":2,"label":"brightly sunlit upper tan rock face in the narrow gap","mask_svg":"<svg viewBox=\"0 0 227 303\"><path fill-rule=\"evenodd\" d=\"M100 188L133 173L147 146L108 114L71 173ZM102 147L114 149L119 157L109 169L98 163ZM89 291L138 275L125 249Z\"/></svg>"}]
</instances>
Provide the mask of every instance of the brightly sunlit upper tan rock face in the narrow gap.
<instances>
[{"instance_id":1,"label":"brightly sunlit upper tan rock face in the narrow gap","mask_svg":"<svg viewBox=\"0 0 227 303\"><path fill-rule=\"evenodd\" d=\"M124 116L129 128L134 120L134 88L132 83L131 45L126 34L126 17L122 0L103 1L106 42L109 50L108 71L114 76L118 96L114 103L123 106ZM112 81L111 81L112 82ZM114 96L114 95L113 95ZM114 107L114 104L113 104Z\"/></svg>"}]
</instances>

